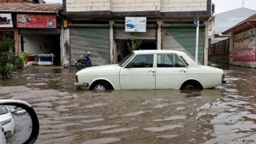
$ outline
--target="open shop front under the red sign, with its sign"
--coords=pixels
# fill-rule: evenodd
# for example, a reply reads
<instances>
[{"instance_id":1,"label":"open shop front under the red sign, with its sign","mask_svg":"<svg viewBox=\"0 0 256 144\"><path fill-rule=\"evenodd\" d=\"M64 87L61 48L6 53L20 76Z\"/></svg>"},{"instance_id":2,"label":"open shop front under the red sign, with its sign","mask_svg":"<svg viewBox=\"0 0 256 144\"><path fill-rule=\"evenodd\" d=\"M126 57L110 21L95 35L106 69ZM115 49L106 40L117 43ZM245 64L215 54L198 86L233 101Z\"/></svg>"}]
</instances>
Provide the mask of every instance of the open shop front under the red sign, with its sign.
<instances>
[{"instance_id":1,"label":"open shop front under the red sign, with its sign","mask_svg":"<svg viewBox=\"0 0 256 144\"><path fill-rule=\"evenodd\" d=\"M17 14L20 51L29 54L29 65L61 66L60 30L57 17Z\"/></svg>"}]
</instances>

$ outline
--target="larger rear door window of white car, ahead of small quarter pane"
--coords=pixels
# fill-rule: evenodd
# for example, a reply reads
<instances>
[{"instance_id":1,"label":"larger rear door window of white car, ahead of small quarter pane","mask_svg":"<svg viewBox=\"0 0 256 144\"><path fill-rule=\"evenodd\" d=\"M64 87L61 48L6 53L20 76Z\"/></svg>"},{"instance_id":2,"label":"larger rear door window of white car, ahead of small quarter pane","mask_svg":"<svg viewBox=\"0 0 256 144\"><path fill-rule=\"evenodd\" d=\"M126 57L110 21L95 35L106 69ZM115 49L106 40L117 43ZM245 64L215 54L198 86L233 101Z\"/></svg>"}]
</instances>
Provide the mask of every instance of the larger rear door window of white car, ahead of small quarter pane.
<instances>
[{"instance_id":1,"label":"larger rear door window of white car, ahead of small quarter pane","mask_svg":"<svg viewBox=\"0 0 256 144\"><path fill-rule=\"evenodd\" d=\"M174 54L158 54L158 67L174 67Z\"/></svg>"}]
</instances>

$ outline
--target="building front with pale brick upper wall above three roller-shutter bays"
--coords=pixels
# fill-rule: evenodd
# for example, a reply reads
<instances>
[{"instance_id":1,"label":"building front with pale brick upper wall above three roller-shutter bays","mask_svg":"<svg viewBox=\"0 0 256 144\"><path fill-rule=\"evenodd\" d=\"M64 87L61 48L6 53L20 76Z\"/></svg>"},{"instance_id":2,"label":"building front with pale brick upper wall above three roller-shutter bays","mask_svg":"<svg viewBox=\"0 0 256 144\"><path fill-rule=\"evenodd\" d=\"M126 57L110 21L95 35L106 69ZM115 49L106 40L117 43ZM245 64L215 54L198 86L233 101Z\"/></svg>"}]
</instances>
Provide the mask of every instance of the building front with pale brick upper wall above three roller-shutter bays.
<instances>
[{"instance_id":1,"label":"building front with pale brick upper wall above three roller-shutter bays","mask_svg":"<svg viewBox=\"0 0 256 144\"><path fill-rule=\"evenodd\" d=\"M130 53L131 38L142 42L140 50L183 50L194 58L194 18L200 20L198 62L207 63L211 6L211 0L63 0L64 63L74 65L87 51L94 66L117 63ZM138 18L146 30L127 30Z\"/></svg>"}]
</instances>

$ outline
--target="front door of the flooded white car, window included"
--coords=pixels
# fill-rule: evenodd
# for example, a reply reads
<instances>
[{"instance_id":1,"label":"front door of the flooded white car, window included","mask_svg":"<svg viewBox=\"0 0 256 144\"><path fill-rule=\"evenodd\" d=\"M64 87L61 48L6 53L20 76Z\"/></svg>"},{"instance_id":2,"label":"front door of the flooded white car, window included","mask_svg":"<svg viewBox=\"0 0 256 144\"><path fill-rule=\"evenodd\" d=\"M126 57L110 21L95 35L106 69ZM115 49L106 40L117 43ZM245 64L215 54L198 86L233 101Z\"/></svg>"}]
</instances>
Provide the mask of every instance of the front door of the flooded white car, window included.
<instances>
[{"instance_id":1,"label":"front door of the flooded white car, window included","mask_svg":"<svg viewBox=\"0 0 256 144\"><path fill-rule=\"evenodd\" d=\"M120 70L120 88L155 89L154 54L137 54Z\"/></svg>"}]
</instances>

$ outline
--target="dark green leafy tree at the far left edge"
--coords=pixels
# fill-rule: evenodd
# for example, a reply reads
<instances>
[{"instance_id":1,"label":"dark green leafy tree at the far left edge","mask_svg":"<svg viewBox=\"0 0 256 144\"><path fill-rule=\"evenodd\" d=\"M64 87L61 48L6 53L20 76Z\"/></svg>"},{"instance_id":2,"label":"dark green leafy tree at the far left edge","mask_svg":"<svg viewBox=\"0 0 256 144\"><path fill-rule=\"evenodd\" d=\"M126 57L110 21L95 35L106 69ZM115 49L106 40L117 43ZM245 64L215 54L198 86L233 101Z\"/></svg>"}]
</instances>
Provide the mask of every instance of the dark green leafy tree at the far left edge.
<instances>
[{"instance_id":1,"label":"dark green leafy tree at the far left edge","mask_svg":"<svg viewBox=\"0 0 256 144\"><path fill-rule=\"evenodd\" d=\"M14 39L3 38L0 41L0 74L2 78L8 78L13 70L14 56L11 52Z\"/></svg>"}]
</instances>

